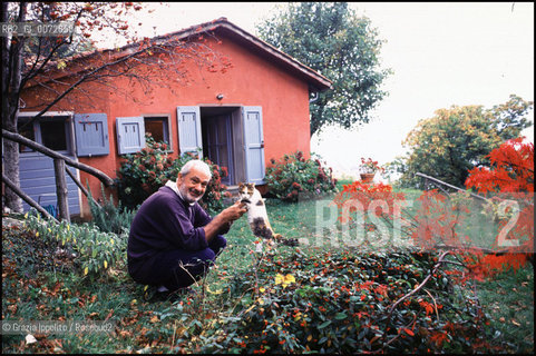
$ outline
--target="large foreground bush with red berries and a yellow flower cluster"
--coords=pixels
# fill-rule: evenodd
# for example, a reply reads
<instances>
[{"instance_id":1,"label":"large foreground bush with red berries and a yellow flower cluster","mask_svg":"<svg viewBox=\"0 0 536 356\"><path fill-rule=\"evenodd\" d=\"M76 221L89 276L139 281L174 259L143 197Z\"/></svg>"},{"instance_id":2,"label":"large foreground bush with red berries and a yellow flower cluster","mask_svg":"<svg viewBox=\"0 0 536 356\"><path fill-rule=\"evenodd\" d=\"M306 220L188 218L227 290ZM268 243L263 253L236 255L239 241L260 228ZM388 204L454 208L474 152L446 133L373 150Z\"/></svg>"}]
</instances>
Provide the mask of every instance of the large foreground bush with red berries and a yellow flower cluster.
<instances>
[{"instance_id":1,"label":"large foreground bush with red berries and a yellow flower cluster","mask_svg":"<svg viewBox=\"0 0 536 356\"><path fill-rule=\"evenodd\" d=\"M486 318L446 271L433 274L426 288L390 313L436 263L437 255L417 251L269 255L255 270L231 279L222 300L230 300L234 313L203 322L211 328L193 329L201 335L197 346L207 354L489 349Z\"/></svg>"}]
</instances>

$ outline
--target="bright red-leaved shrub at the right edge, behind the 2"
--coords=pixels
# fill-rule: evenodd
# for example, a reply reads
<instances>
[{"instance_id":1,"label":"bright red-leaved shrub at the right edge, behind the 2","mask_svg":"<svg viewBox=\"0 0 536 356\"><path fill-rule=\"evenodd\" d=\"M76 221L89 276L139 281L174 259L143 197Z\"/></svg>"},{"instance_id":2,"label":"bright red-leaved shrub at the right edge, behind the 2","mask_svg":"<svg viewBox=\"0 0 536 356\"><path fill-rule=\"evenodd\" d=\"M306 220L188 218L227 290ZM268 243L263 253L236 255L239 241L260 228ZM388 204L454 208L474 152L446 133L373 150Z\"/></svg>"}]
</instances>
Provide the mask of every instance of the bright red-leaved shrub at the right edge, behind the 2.
<instances>
[{"instance_id":1,"label":"bright red-leaved shrub at the right edge, behind the 2","mask_svg":"<svg viewBox=\"0 0 536 356\"><path fill-rule=\"evenodd\" d=\"M494 248L501 254L479 254L471 265L480 276L534 261L534 144L508 140L488 156L491 167L469 171L468 188L495 194L487 206L499 222Z\"/></svg>"}]
</instances>

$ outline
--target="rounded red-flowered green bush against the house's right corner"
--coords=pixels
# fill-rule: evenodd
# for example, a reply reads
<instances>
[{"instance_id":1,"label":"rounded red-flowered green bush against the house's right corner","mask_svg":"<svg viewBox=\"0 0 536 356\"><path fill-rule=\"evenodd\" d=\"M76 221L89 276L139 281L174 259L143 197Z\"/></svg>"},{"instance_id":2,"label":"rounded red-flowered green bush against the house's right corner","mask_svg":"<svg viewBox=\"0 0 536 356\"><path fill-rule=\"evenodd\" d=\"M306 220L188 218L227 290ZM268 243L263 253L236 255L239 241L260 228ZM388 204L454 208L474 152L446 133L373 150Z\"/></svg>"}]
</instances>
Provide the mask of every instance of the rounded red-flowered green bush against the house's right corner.
<instances>
[{"instance_id":1,"label":"rounded red-flowered green bush against the house's right corner","mask_svg":"<svg viewBox=\"0 0 536 356\"><path fill-rule=\"evenodd\" d=\"M284 201L298 201L321 197L337 191L337 179L332 169L325 169L319 158L305 159L301 151L284 155L280 161L271 159L266 168L265 181L270 192Z\"/></svg>"}]
</instances>

